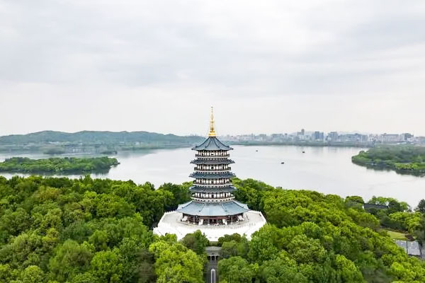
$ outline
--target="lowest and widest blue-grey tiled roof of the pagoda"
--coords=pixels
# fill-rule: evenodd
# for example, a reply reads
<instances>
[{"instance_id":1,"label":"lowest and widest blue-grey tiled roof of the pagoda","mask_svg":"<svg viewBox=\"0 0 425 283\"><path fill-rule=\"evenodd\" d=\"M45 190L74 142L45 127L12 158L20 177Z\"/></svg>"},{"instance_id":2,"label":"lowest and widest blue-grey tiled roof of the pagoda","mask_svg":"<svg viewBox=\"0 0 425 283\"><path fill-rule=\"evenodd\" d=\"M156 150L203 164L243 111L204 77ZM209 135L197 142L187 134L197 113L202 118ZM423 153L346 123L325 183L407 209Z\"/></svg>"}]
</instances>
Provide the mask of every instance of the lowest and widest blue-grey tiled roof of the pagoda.
<instances>
[{"instance_id":1,"label":"lowest and widest blue-grey tiled roof of the pagoda","mask_svg":"<svg viewBox=\"0 0 425 283\"><path fill-rule=\"evenodd\" d=\"M226 216L242 214L249 211L246 204L230 200L228 202L197 202L191 200L185 204L179 204L177 212L197 216Z\"/></svg>"}]
</instances>

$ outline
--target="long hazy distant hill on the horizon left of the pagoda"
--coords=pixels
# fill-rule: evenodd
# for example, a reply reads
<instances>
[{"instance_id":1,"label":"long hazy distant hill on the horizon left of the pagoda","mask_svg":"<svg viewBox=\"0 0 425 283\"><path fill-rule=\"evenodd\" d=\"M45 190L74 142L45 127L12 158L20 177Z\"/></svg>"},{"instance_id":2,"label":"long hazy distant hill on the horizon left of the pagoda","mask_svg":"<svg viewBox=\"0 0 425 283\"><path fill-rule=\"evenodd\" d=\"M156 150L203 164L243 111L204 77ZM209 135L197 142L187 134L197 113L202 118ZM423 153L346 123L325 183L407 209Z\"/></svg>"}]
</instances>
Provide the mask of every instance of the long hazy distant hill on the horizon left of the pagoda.
<instances>
[{"instance_id":1,"label":"long hazy distant hill on the horizon left of the pagoda","mask_svg":"<svg viewBox=\"0 0 425 283\"><path fill-rule=\"evenodd\" d=\"M203 137L176 136L175 134L158 134L154 132L99 132L81 131L75 133L42 131L31 134L11 134L0 137L0 144L43 144L55 142L83 144L118 144L118 143L197 143Z\"/></svg>"}]
</instances>

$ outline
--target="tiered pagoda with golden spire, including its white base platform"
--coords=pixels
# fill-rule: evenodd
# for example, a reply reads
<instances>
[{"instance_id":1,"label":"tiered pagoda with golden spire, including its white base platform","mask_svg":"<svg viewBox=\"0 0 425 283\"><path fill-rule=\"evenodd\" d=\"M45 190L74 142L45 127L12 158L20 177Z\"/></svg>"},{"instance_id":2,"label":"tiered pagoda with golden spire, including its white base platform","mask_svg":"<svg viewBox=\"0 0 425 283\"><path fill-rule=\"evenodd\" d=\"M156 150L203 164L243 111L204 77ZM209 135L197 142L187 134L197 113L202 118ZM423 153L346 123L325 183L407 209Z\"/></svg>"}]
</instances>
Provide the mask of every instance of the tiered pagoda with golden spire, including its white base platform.
<instances>
[{"instance_id":1,"label":"tiered pagoda with golden spire, including its white base platform","mask_svg":"<svg viewBox=\"0 0 425 283\"><path fill-rule=\"evenodd\" d=\"M176 211L166 212L154 228L154 233L164 236L176 234L178 239L200 230L210 241L217 241L226 234L239 233L248 239L258 231L266 219L261 212L250 210L246 204L234 200L236 187L232 185L234 161L229 159L232 147L223 144L215 133L214 115L211 108L210 131L196 151L194 178L189 188L191 201L179 204Z\"/></svg>"}]
</instances>

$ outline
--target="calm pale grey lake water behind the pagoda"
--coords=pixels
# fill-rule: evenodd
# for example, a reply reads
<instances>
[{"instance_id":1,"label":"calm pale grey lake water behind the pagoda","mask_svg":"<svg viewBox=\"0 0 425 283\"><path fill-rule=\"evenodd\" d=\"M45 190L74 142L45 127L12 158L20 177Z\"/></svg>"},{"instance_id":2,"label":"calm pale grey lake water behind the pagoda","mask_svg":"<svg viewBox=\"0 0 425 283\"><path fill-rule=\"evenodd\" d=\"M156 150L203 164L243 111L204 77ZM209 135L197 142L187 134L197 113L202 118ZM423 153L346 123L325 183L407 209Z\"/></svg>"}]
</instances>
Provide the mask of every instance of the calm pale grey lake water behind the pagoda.
<instances>
[{"instance_id":1,"label":"calm pale grey lake water behind the pagoda","mask_svg":"<svg viewBox=\"0 0 425 283\"><path fill-rule=\"evenodd\" d=\"M399 175L394 171L376 171L351 163L351 156L362 150L351 147L319 146L233 146L232 171L239 178L254 178L269 185L288 189L317 190L341 197L360 195L365 201L373 195L394 197L416 207L425 198L425 178ZM303 154L302 151L305 151ZM0 154L0 161L11 156L48 158L43 154ZM195 158L191 149L123 151L116 156L120 165L93 178L149 181L162 183L192 180L189 162ZM280 164L281 162L285 164ZM10 178L9 173L1 173ZM23 175L23 174L19 174ZM79 175L67 175L79 178Z\"/></svg>"}]
</instances>

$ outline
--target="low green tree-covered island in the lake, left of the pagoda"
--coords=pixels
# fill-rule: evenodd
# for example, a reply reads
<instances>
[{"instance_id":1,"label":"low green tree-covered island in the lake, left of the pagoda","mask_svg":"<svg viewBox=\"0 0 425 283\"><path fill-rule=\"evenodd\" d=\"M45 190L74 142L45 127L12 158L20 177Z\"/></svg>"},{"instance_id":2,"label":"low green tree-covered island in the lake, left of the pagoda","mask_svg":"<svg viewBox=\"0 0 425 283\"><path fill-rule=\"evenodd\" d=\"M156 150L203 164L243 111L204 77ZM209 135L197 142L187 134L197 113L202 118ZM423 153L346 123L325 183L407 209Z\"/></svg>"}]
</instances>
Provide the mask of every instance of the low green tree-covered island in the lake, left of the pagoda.
<instances>
[{"instance_id":1,"label":"low green tree-covered island in the lake, left of the pagoda","mask_svg":"<svg viewBox=\"0 0 425 283\"><path fill-rule=\"evenodd\" d=\"M40 174L84 174L93 172L108 172L119 164L116 158L45 158L31 159L26 157L7 158L0 162L0 172L9 173L40 173Z\"/></svg>"}]
</instances>

